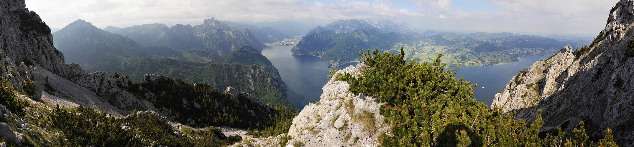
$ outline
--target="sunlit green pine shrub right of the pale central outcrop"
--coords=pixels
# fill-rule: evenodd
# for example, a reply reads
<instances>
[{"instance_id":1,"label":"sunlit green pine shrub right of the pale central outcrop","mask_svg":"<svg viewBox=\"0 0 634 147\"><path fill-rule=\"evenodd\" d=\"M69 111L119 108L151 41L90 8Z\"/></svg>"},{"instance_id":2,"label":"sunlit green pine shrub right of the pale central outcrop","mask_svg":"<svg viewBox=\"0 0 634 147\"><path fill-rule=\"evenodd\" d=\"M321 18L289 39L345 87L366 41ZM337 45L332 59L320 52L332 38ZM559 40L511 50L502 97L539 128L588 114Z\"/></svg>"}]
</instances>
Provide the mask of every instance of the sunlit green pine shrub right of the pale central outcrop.
<instances>
[{"instance_id":1,"label":"sunlit green pine shrub right of the pale central outcrop","mask_svg":"<svg viewBox=\"0 0 634 147\"><path fill-rule=\"evenodd\" d=\"M550 134L540 138L541 110L527 123L476 101L477 85L445 70L442 54L422 64L404 61L403 51L396 56L378 50L361 55L367 66L363 76L346 73L341 80L350 84L353 93L385 103L380 114L391 122L392 135L380 134L383 146L547 146L588 141ZM600 143L614 143L611 134L606 133Z\"/></svg>"}]
</instances>

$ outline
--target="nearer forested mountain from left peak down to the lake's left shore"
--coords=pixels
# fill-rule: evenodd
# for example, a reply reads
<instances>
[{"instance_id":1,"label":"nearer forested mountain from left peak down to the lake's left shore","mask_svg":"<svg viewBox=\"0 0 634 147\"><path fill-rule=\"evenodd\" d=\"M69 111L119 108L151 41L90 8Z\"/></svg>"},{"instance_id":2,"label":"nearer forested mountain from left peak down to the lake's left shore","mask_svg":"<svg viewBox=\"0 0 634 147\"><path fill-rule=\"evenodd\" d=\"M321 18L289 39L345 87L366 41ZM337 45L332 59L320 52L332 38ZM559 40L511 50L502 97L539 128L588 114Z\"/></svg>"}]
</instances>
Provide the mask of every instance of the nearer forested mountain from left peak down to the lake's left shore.
<instances>
[{"instance_id":1,"label":"nearer forested mountain from left peak down to the lake's left shore","mask_svg":"<svg viewBox=\"0 0 634 147\"><path fill-rule=\"evenodd\" d=\"M148 28L147 25L138 26ZM215 88L233 86L265 102L295 108L286 99L285 84L277 69L255 47L243 46L219 57L206 50L144 46L129 37L101 30L84 20L70 23L54 33L53 37L55 47L65 54L67 62L77 63L89 72L117 71L133 80L140 80L148 73L158 73L208 83Z\"/></svg>"}]
</instances>

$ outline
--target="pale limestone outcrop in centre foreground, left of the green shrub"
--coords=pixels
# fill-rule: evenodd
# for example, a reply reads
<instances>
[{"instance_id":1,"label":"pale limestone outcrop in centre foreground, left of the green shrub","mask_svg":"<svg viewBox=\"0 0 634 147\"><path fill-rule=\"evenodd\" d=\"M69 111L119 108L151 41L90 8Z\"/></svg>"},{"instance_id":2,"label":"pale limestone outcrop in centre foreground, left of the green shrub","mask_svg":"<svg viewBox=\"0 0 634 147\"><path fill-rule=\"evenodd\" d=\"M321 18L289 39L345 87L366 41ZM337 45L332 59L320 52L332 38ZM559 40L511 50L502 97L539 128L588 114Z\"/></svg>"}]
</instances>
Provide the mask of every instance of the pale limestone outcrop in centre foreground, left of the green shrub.
<instances>
[{"instance_id":1,"label":"pale limestone outcrop in centre foreground, left of the green shrub","mask_svg":"<svg viewBox=\"0 0 634 147\"><path fill-rule=\"evenodd\" d=\"M306 146L377 146L377 136L387 132L391 124L384 123L383 115L378 113L382 103L374 102L375 98L366 95L354 95L348 91L346 81L337 81L337 74L361 73L361 63L349 66L335 73L323 86L321 100L310 103L293 119L288 135L294 141ZM351 106L350 104L354 105ZM370 114L371 119L358 119L355 115ZM365 126L368 123L370 126Z\"/></svg>"}]
</instances>

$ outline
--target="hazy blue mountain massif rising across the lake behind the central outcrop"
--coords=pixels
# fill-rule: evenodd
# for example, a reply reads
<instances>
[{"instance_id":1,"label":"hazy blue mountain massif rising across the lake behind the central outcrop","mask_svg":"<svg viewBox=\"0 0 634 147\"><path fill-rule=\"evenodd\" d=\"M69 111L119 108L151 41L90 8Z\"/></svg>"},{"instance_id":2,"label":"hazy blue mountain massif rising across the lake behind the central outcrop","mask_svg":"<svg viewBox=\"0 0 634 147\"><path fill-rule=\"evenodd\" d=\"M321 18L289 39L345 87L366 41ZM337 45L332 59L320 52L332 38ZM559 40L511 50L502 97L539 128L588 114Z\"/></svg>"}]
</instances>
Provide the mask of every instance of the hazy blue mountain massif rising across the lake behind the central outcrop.
<instances>
[{"instance_id":1,"label":"hazy blue mountain massif rising across the lake behind the central outcrop","mask_svg":"<svg viewBox=\"0 0 634 147\"><path fill-rule=\"evenodd\" d=\"M421 40L406 23L384 20L339 20L317 26L291 49L294 54L319 56L333 66L356 61L359 50L390 50L399 42ZM395 33L396 32L396 33Z\"/></svg>"}]
</instances>

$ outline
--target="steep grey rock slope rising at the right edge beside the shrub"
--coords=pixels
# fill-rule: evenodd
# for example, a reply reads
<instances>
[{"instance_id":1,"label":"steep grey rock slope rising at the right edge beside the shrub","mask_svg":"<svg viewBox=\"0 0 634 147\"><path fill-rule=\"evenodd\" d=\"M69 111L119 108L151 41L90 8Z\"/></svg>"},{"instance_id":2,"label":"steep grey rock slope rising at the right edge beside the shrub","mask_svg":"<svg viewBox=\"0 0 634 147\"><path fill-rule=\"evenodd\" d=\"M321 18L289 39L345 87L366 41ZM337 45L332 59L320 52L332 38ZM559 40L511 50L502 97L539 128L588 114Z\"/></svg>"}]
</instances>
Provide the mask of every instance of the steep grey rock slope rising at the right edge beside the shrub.
<instances>
[{"instance_id":1,"label":"steep grey rock slope rising at the right edge beside the shrub","mask_svg":"<svg viewBox=\"0 0 634 147\"><path fill-rule=\"evenodd\" d=\"M619 1L590 52L575 56L571 47L535 62L511 79L492 107L517 112L531 121L541 109L542 131L571 131L580 121L591 137L607 127L621 146L634 146L634 57L626 55L634 38L634 1Z\"/></svg>"}]
</instances>

